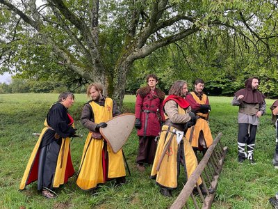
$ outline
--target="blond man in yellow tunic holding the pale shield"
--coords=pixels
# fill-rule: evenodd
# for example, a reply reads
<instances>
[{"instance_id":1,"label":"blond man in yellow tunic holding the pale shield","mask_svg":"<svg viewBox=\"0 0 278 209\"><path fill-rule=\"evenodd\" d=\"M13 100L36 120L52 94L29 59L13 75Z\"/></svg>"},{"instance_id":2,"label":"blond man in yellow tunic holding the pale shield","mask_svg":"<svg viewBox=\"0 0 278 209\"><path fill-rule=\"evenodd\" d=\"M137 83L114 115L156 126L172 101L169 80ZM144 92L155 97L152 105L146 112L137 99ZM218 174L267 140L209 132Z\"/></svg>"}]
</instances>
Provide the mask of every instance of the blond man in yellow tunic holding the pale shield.
<instances>
[{"instance_id":1,"label":"blond man in yellow tunic holding the pale shield","mask_svg":"<svg viewBox=\"0 0 278 209\"><path fill-rule=\"evenodd\" d=\"M87 88L88 98L81 114L81 123L88 128L79 175L76 184L84 190L93 190L107 180L116 179L116 184L126 182L126 171L122 149L113 153L111 146L101 136L99 128L107 127L107 121L120 115L117 104L111 98L102 95L101 84L90 84Z\"/></svg>"}]
</instances>

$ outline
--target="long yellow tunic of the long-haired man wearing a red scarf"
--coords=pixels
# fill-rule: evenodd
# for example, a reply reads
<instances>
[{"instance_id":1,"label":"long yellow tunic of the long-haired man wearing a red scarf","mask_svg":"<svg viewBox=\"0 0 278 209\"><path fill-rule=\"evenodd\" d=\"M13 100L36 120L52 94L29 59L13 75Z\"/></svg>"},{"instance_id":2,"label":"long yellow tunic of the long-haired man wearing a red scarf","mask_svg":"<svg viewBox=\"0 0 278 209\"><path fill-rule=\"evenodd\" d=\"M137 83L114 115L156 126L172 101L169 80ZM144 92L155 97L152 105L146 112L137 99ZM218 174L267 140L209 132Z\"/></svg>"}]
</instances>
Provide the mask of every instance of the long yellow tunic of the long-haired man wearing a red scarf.
<instances>
[{"instance_id":1,"label":"long yellow tunic of the long-haired man wearing a red scarf","mask_svg":"<svg viewBox=\"0 0 278 209\"><path fill-rule=\"evenodd\" d=\"M179 110L179 114L185 114L185 111L179 106L178 106L178 110ZM179 174L177 170L177 155L178 155L178 150L179 150L179 146L181 145L181 142L179 145L177 144L177 134L172 133L174 131L174 127L170 127L170 130L168 131L167 134L167 138L165 139L168 127L169 127L168 125L163 125L162 127L161 137L158 141L158 147L156 150L156 156L154 157L154 164L152 167L151 178L156 178L156 183L162 187L167 187L168 189L175 189L177 188L177 178ZM170 148L163 157L159 171L156 171L158 162L161 159L161 155L163 153L165 145L167 144L167 141L169 141L171 137L172 137L172 141L170 144ZM183 140L183 150L186 159L185 160L186 171L187 171L186 174L187 174L187 178L189 178L197 167L197 158L195 156L193 148L190 146L188 141L186 141L184 136L182 140ZM199 179L198 184L200 185L201 183L202 180Z\"/></svg>"}]
</instances>

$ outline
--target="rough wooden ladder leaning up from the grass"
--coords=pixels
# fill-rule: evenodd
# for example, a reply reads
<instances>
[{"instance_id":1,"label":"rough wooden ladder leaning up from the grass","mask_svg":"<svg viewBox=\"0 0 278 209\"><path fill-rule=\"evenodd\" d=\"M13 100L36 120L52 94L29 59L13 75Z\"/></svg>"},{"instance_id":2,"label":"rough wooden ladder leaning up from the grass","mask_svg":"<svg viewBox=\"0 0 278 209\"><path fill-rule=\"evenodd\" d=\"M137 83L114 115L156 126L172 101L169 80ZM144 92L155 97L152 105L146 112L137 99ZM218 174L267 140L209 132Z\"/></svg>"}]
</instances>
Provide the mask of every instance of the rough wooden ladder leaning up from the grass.
<instances>
[{"instance_id":1,"label":"rough wooden ladder leaning up from the grass","mask_svg":"<svg viewBox=\"0 0 278 209\"><path fill-rule=\"evenodd\" d=\"M215 192L213 194L208 194L208 188L215 189L218 184L218 178L223 167L224 158L227 155L227 146L223 147L220 143L220 137L222 133L219 133L218 136L213 140L213 144L209 146L206 154L199 162L197 168L192 173L186 185L184 185L181 193L177 199L172 204L171 208L211 208ZM204 196L197 185L197 180L202 179L202 185L208 195ZM199 194L193 194L194 187L197 187ZM189 199L191 197L191 200ZM192 206L193 205L193 206Z\"/></svg>"}]
</instances>

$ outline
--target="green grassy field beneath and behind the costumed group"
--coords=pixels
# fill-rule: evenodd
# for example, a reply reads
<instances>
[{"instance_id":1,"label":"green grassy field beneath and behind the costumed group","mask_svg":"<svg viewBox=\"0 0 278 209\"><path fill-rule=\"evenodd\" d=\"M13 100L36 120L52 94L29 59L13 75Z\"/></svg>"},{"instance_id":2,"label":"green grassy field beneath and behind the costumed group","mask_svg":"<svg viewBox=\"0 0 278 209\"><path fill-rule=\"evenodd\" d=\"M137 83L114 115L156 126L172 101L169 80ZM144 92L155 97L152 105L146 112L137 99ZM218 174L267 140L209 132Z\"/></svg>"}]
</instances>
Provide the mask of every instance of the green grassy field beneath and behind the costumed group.
<instances>
[{"instance_id":1,"label":"green grassy field beneath and behind the costumed group","mask_svg":"<svg viewBox=\"0 0 278 209\"><path fill-rule=\"evenodd\" d=\"M0 95L0 208L169 208L182 189L183 176L179 178L179 187L172 198L159 194L154 180L149 179L151 168L145 173L136 170L138 137L133 130L124 145L124 153L129 162L131 175L127 174L127 183L115 187L106 183L95 195L83 192L76 186L76 174L69 182L58 189L56 199L45 199L36 190L36 183L28 185L19 192L24 169L31 155L43 121L51 104L56 102L58 94L6 94ZM237 162L237 111L227 97L210 97L210 125L213 137L222 132L222 144L228 146L228 154L220 175L218 189L212 208L272 208L268 199L278 192L278 170L272 167L272 155L275 150L275 128L271 125L270 105L274 100L266 100L267 113L261 117L257 130L255 165L245 161ZM76 95L70 114L75 119L78 133L83 139L73 139L71 144L74 169L78 171L83 144L87 130L80 121L81 109L87 101L85 95ZM134 111L135 96L126 95L124 109Z\"/></svg>"}]
</instances>

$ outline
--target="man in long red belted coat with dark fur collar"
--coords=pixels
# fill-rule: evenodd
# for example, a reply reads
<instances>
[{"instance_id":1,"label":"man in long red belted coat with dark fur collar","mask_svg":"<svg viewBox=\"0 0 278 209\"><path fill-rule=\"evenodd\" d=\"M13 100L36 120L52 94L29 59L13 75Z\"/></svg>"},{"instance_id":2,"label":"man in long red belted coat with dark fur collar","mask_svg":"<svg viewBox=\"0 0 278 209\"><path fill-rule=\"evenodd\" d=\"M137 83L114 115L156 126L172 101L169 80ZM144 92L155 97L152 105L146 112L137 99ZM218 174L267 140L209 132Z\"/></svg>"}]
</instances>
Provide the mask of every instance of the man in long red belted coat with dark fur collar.
<instances>
[{"instance_id":1,"label":"man in long red belted coat with dark fur collar","mask_svg":"<svg viewBox=\"0 0 278 209\"><path fill-rule=\"evenodd\" d=\"M158 77L147 75L147 86L139 88L136 93L136 123L139 148L136 158L139 171L145 171L144 164L152 164L156 153L155 138L161 131L161 123L165 121L162 102L165 93L156 88Z\"/></svg>"}]
</instances>

